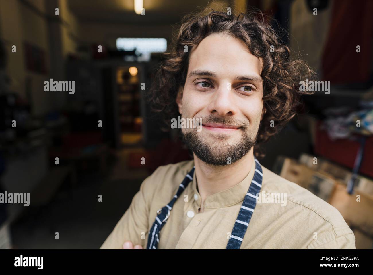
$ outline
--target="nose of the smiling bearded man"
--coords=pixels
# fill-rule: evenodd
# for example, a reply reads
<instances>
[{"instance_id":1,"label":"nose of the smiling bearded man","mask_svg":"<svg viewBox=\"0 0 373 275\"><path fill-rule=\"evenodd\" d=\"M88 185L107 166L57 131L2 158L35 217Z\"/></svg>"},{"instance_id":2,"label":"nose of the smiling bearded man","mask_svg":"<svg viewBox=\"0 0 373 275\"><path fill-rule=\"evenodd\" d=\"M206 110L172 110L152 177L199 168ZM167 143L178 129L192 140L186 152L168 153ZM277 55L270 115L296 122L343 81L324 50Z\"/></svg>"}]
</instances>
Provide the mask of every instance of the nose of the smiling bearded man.
<instances>
[{"instance_id":1,"label":"nose of the smiling bearded man","mask_svg":"<svg viewBox=\"0 0 373 275\"><path fill-rule=\"evenodd\" d=\"M236 104L233 99L233 91L229 83L219 86L212 94L211 101L207 107L208 111L221 116L236 114Z\"/></svg>"}]
</instances>

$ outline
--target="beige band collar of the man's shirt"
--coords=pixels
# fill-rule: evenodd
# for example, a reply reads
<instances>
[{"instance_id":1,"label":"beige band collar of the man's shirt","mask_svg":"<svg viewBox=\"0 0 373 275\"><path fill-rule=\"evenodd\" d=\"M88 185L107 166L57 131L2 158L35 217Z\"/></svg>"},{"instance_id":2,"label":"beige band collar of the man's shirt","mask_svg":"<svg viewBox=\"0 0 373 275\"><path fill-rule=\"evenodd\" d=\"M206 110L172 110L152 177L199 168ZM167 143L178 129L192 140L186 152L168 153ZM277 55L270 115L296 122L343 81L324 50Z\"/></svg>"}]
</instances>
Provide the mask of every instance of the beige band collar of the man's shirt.
<instances>
[{"instance_id":1,"label":"beige band collar of the man's shirt","mask_svg":"<svg viewBox=\"0 0 373 275\"><path fill-rule=\"evenodd\" d=\"M228 207L228 206L232 206L234 204L237 204L243 201L245 199L246 193L248 192L250 188L251 181L253 180L253 177L254 177L255 160L253 160L253 163L251 164L251 168L248 168L248 170L249 169L250 169L250 172L247 174L245 179L242 180L241 182L223 191L207 196L204 202L204 208ZM192 180L190 190L192 192L191 195L194 197L193 201L197 203L197 207L200 208L201 195L197 191L197 179L196 179L195 173L193 173L193 180Z\"/></svg>"}]
</instances>

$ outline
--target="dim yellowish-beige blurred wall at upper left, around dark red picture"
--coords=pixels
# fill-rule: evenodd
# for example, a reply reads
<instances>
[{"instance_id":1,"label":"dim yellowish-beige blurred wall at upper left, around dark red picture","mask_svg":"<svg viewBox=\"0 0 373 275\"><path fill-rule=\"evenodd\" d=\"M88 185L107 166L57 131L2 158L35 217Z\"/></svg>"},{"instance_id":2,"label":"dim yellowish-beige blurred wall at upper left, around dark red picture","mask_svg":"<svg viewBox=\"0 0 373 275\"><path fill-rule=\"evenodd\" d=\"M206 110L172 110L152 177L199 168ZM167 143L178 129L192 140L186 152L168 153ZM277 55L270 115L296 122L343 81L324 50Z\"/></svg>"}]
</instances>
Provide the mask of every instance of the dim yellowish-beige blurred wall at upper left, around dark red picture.
<instances>
[{"instance_id":1,"label":"dim yellowish-beige blurred wall at upper left, around dark red picture","mask_svg":"<svg viewBox=\"0 0 373 275\"><path fill-rule=\"evenodd\" d=\"M54 15L56 7L59 17ZM0 38L8 50L7 74L12 77L12 89L23 98L32 99L32 114L41 115L63 106L66 94L58 94L56 100L56 95L44 92L43 83L50 77L62 80L65 72L61 63L69 53L76 52L77 37L78 24L65 0L0 0ZM62 43L51 45L51 39ZM46 74L26 69L24 42L44 51ZM16 53L12 53L13 45Z\"/></svg>"}]
</instances>

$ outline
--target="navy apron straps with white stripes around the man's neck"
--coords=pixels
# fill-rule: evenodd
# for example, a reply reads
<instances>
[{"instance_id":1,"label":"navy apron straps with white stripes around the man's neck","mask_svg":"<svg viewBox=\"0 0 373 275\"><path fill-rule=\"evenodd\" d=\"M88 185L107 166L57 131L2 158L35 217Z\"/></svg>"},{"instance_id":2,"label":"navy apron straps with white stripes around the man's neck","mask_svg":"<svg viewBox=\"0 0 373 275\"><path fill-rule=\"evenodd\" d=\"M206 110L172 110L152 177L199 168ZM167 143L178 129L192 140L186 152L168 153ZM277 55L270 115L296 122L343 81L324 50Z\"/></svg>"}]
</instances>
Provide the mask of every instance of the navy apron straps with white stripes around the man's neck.
<instances>
[{"instance_id":1,"label":"navy apron straps with white stripes around the man's neck","mask_svg":"<svg viewBox=\"0 0 373 275\"><path fill-rule=\"evenodd\" d=\"M259 161L254 157L255 160L255 172L253 180L251 181L249 190L246 193L244 198L244 202L239 210L236 222L233 226L231 236L228 240L228 244L226 249L239 249L241 247L242 240L245 236L247 227L250 223L251 216L253 215L254 208L257 202L257 194L259 194L261 189L261 182L263 179L263 171L261 169ZM153 223L149 231L147 249L157 249L159 243L159 232L161 231L162 227L166 224L168 217L170 216L170 211L172 210L173 204L178 199L178 197L182 194L185 190L186 186L188 186L189 182L193 179L195 166L186 174L184 180L179 185L178 191L176 195L172 198L172 200L157 211L156 220Z\"/></svg>"}]
</instances>

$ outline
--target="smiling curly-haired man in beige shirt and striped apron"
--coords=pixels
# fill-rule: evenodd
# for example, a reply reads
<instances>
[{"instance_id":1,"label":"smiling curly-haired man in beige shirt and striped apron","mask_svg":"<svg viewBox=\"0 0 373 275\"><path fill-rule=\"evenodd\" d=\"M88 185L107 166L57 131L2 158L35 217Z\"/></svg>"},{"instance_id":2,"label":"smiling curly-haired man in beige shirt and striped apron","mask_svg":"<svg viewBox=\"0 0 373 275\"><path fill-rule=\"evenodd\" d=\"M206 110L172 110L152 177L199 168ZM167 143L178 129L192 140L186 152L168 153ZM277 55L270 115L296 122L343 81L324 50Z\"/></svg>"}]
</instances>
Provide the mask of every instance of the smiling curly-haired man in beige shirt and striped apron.
<instances>
[{"instance_id":1,"label":"smiling curly-haired man in beige shirt and striped apron","mask_svg":"<svg viewBox=\"0 0 373 275\"><path fill-rule=\"evenodd\" d=\"M147 177L101 248L356 248L338 210L254 157L296 114L307 65L260 12L186 16L175 42L151 101L202 119L182 129L193 160Z\"/></svg>"}]
</instances>

